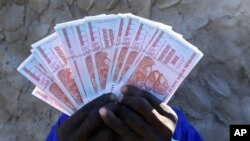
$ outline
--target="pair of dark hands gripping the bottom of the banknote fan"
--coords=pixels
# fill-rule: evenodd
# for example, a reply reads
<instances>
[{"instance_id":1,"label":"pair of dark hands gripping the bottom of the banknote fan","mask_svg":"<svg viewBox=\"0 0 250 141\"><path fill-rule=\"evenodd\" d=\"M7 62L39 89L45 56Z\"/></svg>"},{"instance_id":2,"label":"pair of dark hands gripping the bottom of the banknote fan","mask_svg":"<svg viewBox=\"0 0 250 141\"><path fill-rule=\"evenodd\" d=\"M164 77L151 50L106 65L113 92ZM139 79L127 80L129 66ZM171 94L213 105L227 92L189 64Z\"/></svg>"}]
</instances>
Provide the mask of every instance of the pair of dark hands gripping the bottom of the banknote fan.
<instances>
[{"instance_id":1,"label":"pair of dark hands gripping the bottom of the banknote fan","mask_svg":"<svg viewBox=\"0 0 250 141\"><path fill-rule=\"evenodd\" d=\"M60 141L163 141L169 140L177 115L149 92L122 87L123 97L113 94L90 102L58 129Z\"/></svg>"}]
</instances>

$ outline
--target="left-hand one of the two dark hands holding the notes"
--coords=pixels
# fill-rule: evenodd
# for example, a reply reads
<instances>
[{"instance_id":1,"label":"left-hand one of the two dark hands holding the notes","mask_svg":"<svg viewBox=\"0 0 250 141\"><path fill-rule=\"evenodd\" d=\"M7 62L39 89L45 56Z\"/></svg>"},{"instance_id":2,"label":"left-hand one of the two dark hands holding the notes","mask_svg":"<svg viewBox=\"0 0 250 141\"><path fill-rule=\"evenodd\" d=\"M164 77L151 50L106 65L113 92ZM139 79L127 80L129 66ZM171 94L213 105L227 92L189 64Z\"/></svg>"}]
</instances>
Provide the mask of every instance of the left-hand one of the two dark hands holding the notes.
<instances>
[{"instance_id":1,"label":"left-hand one of the two dark hands holding the notes","mask_svg":"<svg viewBox=\"0 0 250 141\"><path fill-rule=\"evenodd\" d=\"M60 141L112 141L116 134L103 124L98 110L106 107L115 111L117 109L116 97L113 94L105 94L88 103L58 128L57 135Z\"/></svg>"}]
</instances>

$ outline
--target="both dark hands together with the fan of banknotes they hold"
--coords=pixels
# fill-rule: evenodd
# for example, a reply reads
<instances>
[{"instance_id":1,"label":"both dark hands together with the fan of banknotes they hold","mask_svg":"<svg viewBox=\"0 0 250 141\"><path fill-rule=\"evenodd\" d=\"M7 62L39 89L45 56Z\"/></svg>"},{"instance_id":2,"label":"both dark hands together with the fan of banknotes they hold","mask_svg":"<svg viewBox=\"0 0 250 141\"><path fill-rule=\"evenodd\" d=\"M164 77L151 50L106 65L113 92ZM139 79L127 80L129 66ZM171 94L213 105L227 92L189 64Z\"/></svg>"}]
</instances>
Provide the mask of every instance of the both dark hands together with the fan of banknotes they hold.
<instances>
[{"instance_id":1,"label":"both dark hands together with the fan of banknotes they hold","mask_svg":"<svg viewBox=\"0 0 250 141\"><path fill-rule=\"evenodd\" d=\"M60 140L171 137L177 116L160 101L170 100L202 52L170 26L129 13L60 23L55 31L32 44L17 70L36 85L33 95L72 115L58 129ZM103 95L124 84L150 93L126 86L119 102Z\"/></svg>"}]
</instances>

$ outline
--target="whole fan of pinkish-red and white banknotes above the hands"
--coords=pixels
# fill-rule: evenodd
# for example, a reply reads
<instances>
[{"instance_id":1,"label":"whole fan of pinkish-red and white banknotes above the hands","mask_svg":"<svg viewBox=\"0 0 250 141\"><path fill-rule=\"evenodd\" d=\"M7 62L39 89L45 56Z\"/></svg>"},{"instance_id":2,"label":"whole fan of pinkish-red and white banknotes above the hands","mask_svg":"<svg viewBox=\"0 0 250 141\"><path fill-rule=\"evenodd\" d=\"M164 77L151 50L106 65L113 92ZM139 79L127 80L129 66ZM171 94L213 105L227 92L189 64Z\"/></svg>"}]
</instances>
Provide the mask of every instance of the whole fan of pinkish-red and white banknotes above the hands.
<instances>
[{"instance_id":1,"label":"whole fan of pinkish-red and white banknotes above the hands","mask_svg":"<svg viewBox=\"0 0 250 141\"><path fill-rule=\"evenodd\" d=\"M132 14L97 15L60 23L32 44L18 71L39 99L72 115L130 84L168 102L203 56L171 26Z\"/></svg>"}]
</instances>

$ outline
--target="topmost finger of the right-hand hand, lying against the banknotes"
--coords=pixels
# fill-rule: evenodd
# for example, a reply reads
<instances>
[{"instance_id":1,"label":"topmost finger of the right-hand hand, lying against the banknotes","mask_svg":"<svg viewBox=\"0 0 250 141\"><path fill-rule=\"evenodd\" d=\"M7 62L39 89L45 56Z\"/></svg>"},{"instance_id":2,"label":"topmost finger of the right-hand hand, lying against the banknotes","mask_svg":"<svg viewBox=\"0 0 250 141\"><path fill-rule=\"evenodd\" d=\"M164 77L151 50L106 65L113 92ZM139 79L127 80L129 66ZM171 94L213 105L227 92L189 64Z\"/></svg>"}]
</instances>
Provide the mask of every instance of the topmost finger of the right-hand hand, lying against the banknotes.
<instances>
[{"instance_id":1,"label":"topmost finger of the right-hand hand, lying against the banknotes","mask_svg":"<svg viewBox=\"0 0 250 141\"><path fill-rule=\"evenodd\" d=\"M121 88L121 92L128 96L144 97L161 115L170 118L172 121L177 122L176 114L171 107L166 106L159 99L153 96L150 92L139 89L132 85L125 85ZM164 106L165 105L165 106Z\"/></svg>"}]
</instances>

